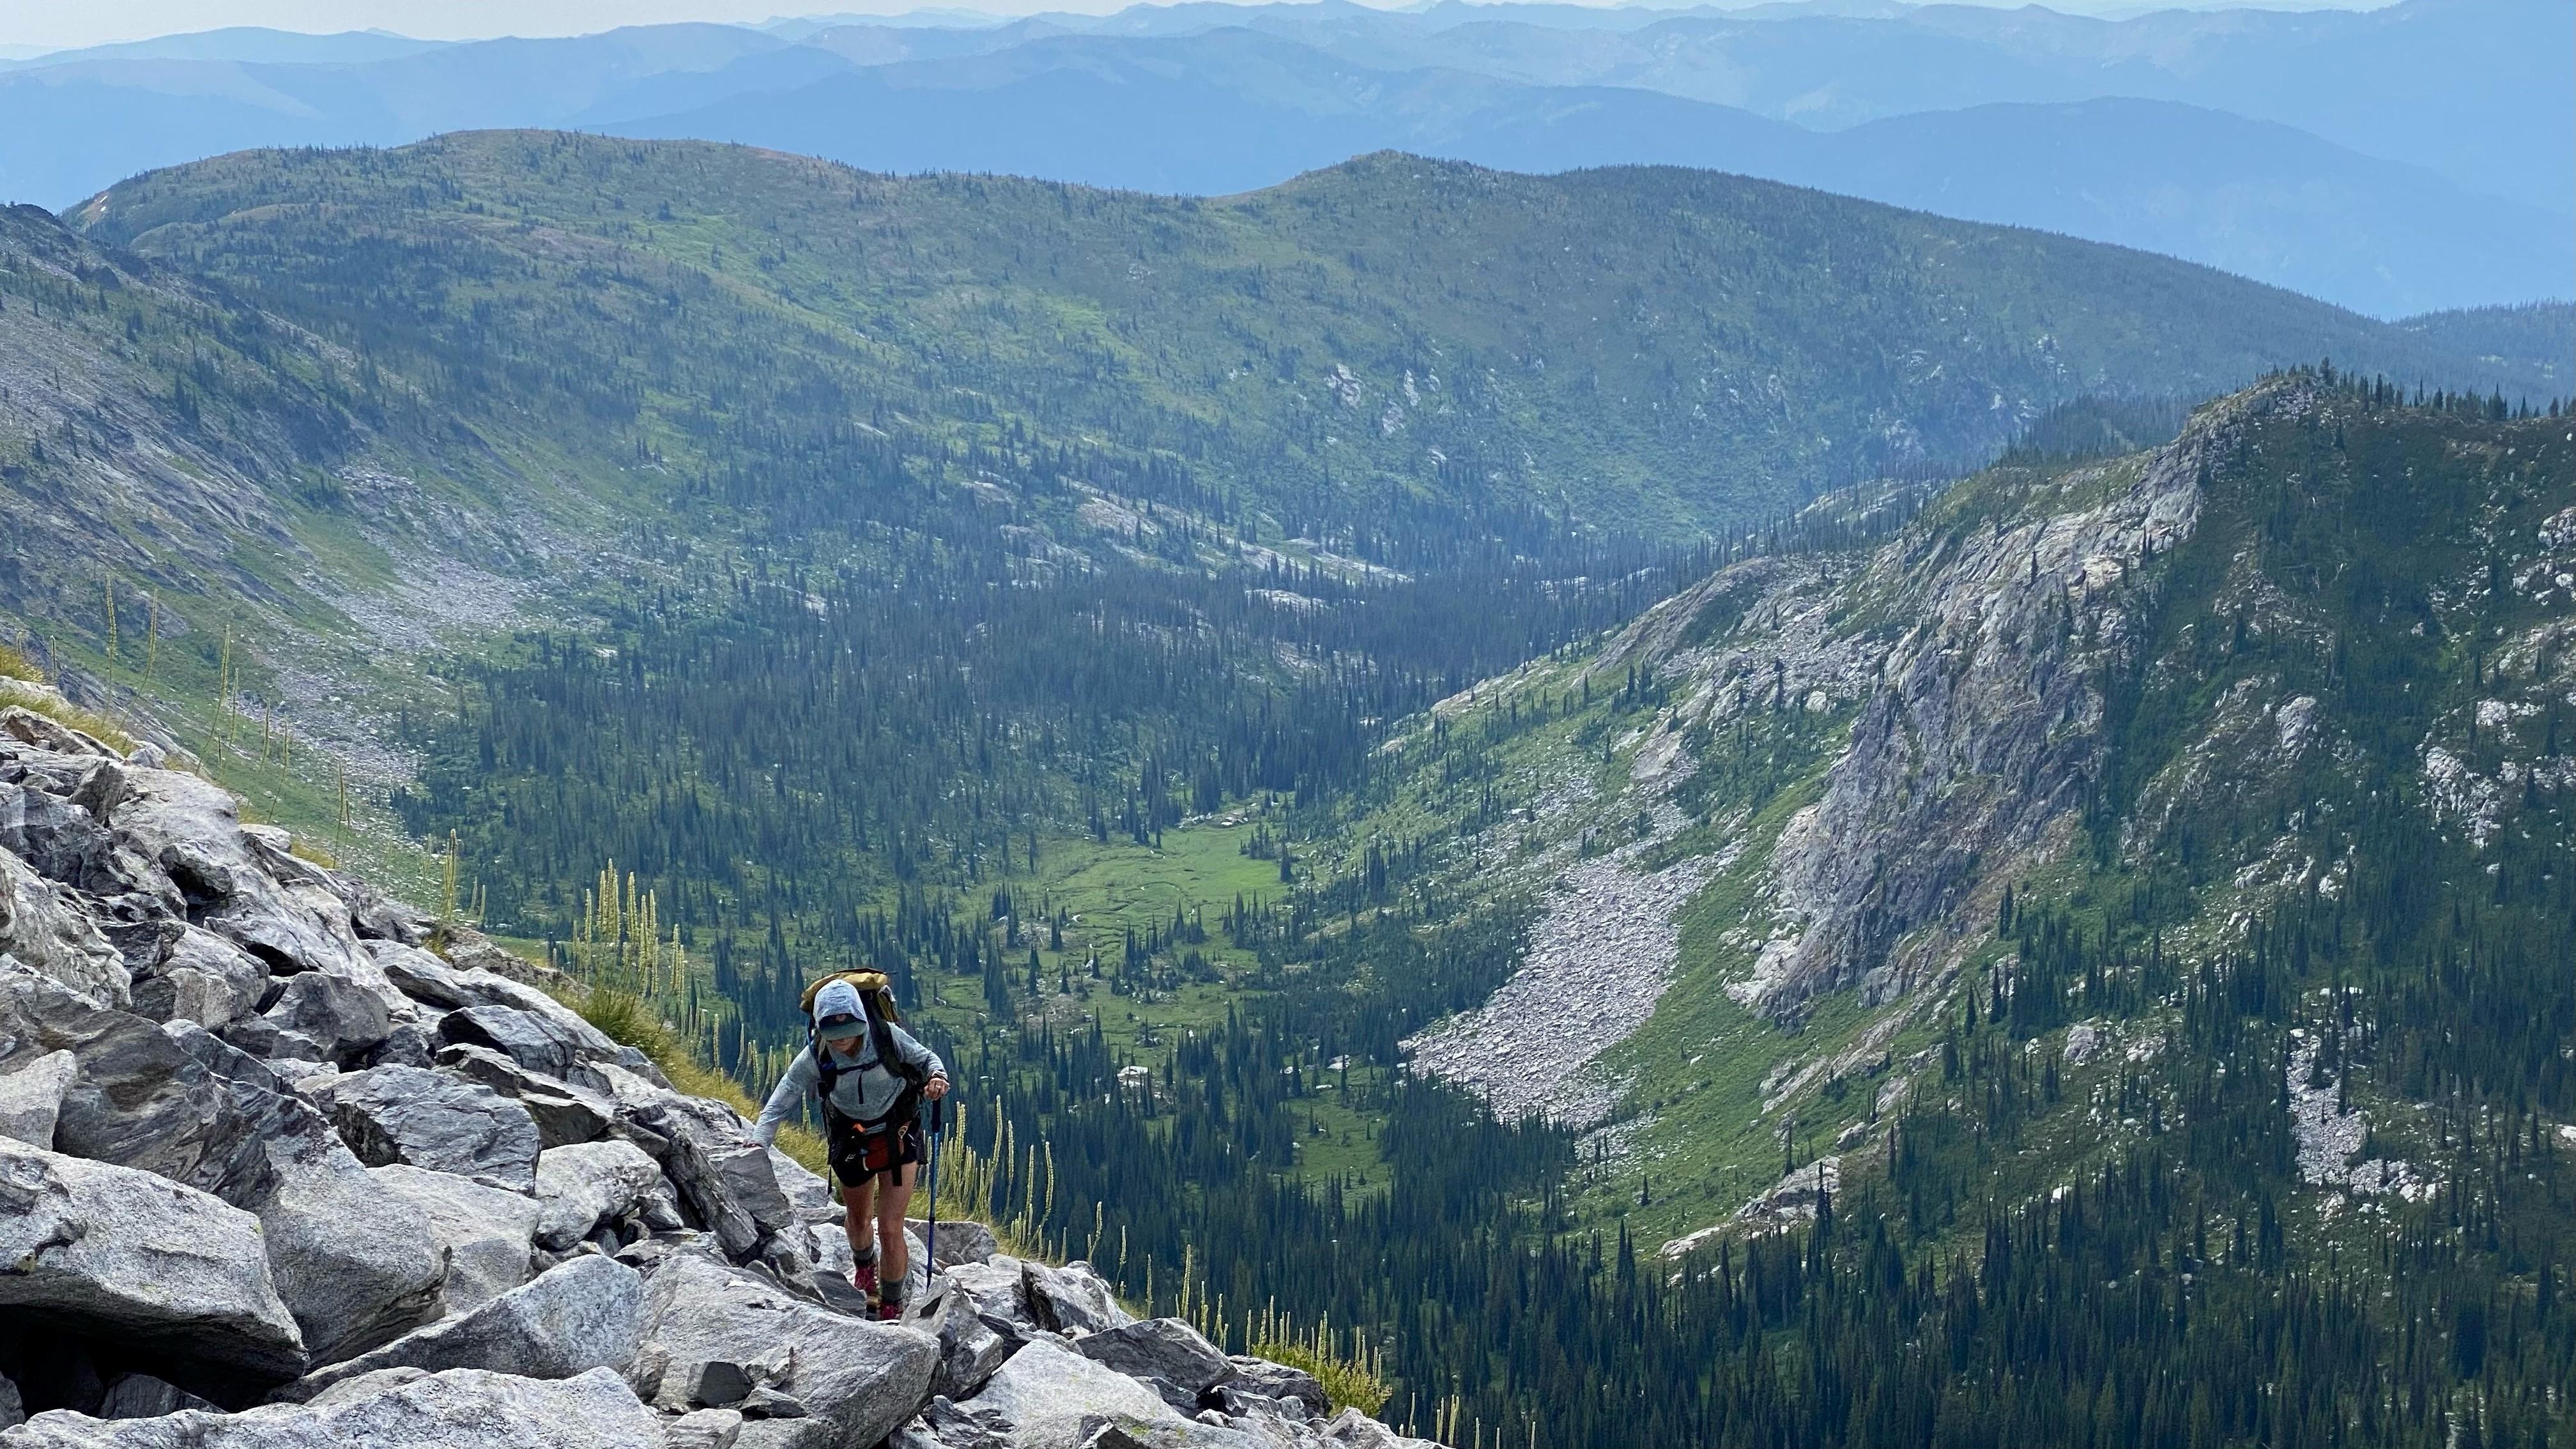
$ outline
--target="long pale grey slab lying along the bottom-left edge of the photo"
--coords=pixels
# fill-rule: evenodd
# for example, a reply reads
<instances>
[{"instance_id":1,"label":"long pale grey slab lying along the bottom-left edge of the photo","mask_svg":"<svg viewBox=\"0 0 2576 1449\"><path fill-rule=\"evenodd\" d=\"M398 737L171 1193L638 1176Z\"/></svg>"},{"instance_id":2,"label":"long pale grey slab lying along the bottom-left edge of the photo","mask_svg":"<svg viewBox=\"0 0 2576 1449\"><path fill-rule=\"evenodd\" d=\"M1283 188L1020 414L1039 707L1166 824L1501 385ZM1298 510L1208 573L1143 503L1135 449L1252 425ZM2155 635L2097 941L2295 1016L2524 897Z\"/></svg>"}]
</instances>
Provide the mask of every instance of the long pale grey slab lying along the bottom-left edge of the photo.
<instances>
[{"instance_id":1,"label":"long pale grey slab lying along the bottom-left edge of the photo","mask_svg":"<svg viewBox=\"0 0 2576 1449\"><path fill-rule=\"evenodd\" d=\"M662 1421L608 1369L520 1379L448 1369L332 1403L100 1421L67 1410L18 1426L10 1449L665 1449Z\"/></svg>"}]
</instances>

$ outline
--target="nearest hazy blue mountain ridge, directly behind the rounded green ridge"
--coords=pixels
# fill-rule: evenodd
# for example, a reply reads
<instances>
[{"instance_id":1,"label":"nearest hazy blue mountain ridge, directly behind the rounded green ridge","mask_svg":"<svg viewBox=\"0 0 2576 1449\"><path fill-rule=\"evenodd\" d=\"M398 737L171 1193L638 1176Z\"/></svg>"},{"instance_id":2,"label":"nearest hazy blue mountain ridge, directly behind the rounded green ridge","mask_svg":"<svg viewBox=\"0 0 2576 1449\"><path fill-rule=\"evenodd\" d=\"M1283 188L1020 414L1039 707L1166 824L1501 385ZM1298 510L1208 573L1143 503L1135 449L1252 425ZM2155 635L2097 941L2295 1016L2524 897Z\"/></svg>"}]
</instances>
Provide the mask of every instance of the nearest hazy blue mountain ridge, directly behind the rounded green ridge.
<instances>
[{"instance_id":1,"label":"nearest hazy blue mountain ridge, directly behind the rounded green ridge","mask_svg":"<svg viewBox=\"0 0 2576 1449\"><path fill-rule=\"evenodd\" d=\"M1185 193L1252 191L1378 147L1504 170L1698 165L2169 253L2383 317L2576 294L2576 248L2548 211L2290 126L2156 101L1981 106L1819 134L1654 90L1363 70L1234 28L1048 36L585 124L868 170Z\"/></svg>"}]
</instances>

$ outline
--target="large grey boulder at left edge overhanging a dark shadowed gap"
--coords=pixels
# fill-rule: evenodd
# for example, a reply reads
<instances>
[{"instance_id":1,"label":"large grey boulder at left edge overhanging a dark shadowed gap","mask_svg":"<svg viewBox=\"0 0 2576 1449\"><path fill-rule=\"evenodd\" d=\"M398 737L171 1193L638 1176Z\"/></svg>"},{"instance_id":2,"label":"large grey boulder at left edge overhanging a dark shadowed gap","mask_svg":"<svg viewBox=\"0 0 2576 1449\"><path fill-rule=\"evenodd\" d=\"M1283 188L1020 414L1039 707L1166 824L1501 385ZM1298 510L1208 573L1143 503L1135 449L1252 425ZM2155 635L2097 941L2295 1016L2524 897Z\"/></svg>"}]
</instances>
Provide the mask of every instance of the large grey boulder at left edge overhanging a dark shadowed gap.
<instances>
[{"instance_id":1,"label":"large grey boulder at left edge overhanging a dark shadowed gap","mask_svg":"<svg viewBox=\"0 0 2576 1449\"><path fill-rule=\"evenodd\" d=\"M0 1140L0 1307L286 1379L304 1336L260 1222L204 1191Z\"/></svg>"}]
</instances>

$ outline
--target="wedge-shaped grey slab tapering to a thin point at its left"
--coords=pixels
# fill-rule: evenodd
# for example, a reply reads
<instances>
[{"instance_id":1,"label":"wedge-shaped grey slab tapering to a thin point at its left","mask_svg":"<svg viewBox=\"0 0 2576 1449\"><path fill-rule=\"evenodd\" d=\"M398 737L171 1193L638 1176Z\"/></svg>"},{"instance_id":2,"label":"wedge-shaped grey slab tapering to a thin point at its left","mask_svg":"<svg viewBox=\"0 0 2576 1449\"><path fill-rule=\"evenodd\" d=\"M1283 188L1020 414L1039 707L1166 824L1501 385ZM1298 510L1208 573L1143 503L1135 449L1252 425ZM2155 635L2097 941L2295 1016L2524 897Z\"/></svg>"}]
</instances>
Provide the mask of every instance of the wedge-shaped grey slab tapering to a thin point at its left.
<instances>
[{"instance_id":1,"label":"wedge-shaped grey slab tapering to a thin point at its left","mask_svg":"<svg viewBox=\"0 0 2576 1449\"><path fill-rule=\"evenodd\" d=\"M317 1369L278 1397L309 1400L376 1369L492 1369L523 1379L569 1379L587 1369L623 1374L636 1356L641 1307L644 1279L634 1269L582 1253L466 1315Z\"/></svg>"}]
</instances>

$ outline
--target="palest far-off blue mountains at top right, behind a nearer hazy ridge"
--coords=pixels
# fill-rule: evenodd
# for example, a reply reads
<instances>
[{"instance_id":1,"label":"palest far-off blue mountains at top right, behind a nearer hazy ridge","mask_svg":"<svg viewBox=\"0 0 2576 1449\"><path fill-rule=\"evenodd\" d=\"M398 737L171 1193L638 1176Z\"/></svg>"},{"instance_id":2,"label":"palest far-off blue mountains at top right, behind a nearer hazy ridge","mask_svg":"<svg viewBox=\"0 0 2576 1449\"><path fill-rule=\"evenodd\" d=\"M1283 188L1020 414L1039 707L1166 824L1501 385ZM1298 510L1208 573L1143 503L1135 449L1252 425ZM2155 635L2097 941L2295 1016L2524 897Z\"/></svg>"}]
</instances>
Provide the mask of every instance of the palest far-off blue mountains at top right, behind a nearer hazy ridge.
<instances>
[{"instance_id":1,"label":"palest far-off blue mountains at top right, behind a nearer hazy ridge","mask_svg":"<svg viewBox=\"0 0 2576 1449\"><path fill-rule=\"evenodd\" d=\"M2383 10L2040 5L1826 13L1783 5L1566 31L1520 8L1414 18L1267 5L1244 23L1363 64L1448 64L1538 85L1633 85L1816 129L1999 101L2136 95L2282 121L2496 196L2576 211L2576 5L2403 0Z\"/></svg>"}]
</instances>

